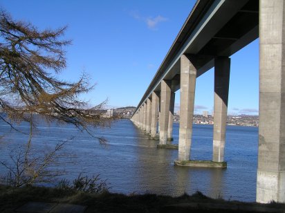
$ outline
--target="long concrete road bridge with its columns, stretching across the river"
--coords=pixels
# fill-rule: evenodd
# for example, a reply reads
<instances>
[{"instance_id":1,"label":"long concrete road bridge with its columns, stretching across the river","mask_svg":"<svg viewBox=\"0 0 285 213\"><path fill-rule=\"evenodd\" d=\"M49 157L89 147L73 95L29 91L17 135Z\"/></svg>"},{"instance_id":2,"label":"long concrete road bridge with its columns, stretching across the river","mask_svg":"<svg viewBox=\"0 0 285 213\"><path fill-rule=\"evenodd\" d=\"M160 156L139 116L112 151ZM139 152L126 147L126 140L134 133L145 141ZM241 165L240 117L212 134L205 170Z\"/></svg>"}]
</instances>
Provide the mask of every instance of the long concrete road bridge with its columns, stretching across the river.
<instances>
[{"instance_id":1,"label":"long concrete road bridge with its columns, stretching across the river","mask_svg":"<svg viewBox=\"0 0 285 213\"><path fill-rule=\"evenodd\" d=\"M257 202L285 203L285 2L198 0L131 120L156 137L172 138L180 89L179 163L190 160L196 77L214 67L213 163L223 163L230 56L259 37ZM159 122L158 120L159 114ZM246 147L245 147L246 149Z\"/></svg>"}]
</instances>

